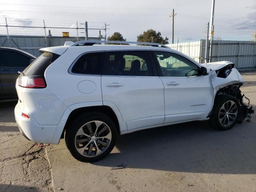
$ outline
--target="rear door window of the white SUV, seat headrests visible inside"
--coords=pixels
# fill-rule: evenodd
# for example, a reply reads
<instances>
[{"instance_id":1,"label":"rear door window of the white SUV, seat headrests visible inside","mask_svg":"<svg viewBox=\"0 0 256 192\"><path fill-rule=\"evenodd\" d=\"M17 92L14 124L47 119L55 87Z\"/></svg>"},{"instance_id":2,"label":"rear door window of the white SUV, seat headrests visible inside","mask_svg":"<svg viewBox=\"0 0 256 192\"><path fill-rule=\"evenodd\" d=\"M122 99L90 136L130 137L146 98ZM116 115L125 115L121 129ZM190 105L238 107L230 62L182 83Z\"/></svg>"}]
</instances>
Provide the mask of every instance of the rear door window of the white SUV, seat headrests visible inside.
<instances>
[{"instance_id":1,"label":"rear door window of the white SUV, seat headrests visible inside","mask_svg":"<svg viewBox=\"0 0 256 192\"><path fill-rule=\"evenodd\" d=\"M149 51L108 52L105 75L152 76Z\"/></svg>"}]
</instances>

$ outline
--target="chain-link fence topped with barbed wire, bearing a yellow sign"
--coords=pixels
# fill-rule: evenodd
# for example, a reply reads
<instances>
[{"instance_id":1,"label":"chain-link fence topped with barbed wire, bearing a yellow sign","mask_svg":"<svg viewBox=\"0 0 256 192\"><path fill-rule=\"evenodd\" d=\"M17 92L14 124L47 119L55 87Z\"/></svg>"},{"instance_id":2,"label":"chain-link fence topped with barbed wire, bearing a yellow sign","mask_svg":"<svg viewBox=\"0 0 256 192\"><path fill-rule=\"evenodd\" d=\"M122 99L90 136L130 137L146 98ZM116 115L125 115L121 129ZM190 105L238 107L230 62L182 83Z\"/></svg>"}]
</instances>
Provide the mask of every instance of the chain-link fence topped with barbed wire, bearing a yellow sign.
<instances>
[{"instance_id":1,"label":"chain-link fence topped with barbed wire, bearing a yellow sign","mask_svg":"<svg viewBox=\"0 0 256 192\"><path fill-rule=\"evenodd\" d=\"M66 41L106 39L107 26L103 22L0 18L0 46L38 57L41 54L38 50L43 47L63 46Z\"/></svg>"}]
</instances>

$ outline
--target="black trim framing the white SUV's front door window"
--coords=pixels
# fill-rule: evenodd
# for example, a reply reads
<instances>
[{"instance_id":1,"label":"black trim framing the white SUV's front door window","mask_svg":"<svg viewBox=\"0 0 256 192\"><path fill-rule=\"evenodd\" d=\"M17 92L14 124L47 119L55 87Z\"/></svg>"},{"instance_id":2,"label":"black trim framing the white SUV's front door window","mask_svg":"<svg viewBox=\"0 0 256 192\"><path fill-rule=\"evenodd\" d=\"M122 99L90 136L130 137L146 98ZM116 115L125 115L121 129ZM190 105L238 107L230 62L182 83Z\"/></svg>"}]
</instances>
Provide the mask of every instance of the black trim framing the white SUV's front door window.
<instances>
[{"instance_id":1,"label":"black trim framing the white SUV's front door window","mask_svg":"<svg viewBox=\"0 0 256 192\"><path fill-rule=\"evenodd\" d=\"M179 54L179 53L176 53L176 52L173 52L173 51L156 50L156 49L151 49L150 51L151 51L151 53L152 53L152 57L153 57L153 59L154 59L154 64L155 64L155 66L156 66L156 70L157 70L157 72L158 72L158 76L159 76L159 77L162 77L162 78L191 78L191 77L202 76L202 75L195 75L195 76L188 76L188 77L163 76L163 75L162 75L162 71L161 71L161 69L160 69L160 64L159 64L159 62L158 62L158 60L157 60L157 58L156 58L156 55L154 54L154 51L169 52L169 53L172 53L172 54L177 54L177 55L179 55L179 56L182 56L182 57L186 58L187 60L189 60L190 62L192 62L193 64L195 64L195 65L198 67L198 70L201 68L201 66L199 66L198 64L196 64L191 58L185 57L185 56L183 56L182 54Z\"/></svg>"}]
</instances>

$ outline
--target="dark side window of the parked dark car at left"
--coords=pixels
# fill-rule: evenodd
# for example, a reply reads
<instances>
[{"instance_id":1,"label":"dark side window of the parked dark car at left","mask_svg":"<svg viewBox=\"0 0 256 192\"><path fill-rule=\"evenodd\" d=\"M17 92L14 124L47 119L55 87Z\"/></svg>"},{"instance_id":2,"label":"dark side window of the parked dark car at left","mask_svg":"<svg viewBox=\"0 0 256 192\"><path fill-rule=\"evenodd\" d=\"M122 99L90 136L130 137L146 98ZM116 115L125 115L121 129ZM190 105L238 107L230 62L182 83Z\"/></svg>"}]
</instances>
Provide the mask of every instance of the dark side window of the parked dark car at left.
<instances>
[{"instance_id":1,"label":"dark side window of the parked dark car at left","mask_svg":"<svg viewBox=\"0 0 256 192\"><path fill-rule=\"evenodd\" d=\"M14 51L0 50L0 66L1 67L27 67L30 58Z\"/></svg>"}]
</instances>

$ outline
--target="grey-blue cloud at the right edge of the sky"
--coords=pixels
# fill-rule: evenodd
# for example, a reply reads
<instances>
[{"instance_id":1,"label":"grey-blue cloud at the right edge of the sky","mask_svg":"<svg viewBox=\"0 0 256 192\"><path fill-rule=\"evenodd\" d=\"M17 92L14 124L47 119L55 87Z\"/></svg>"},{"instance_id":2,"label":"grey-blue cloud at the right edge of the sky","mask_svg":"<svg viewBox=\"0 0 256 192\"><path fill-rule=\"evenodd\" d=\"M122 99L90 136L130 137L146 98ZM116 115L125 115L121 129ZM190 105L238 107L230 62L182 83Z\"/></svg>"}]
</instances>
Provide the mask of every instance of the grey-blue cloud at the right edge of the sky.
<instances>
[{"instance_id":1,"label":"grey-blue cloud at the right edge of the sky","mask_svg":"<svg viewBox=\"0 0 256 192\"><path fill-rule=\"evenodd\" d=\"M232 24L232 27L236 30L252 30L256 27L256 12L249 13L247 16L237 19L231 20L236 24Z\"/></svg>"}]
</instances>

